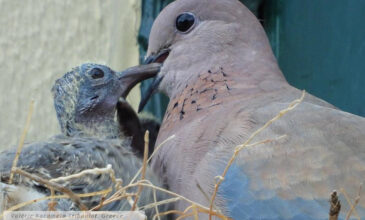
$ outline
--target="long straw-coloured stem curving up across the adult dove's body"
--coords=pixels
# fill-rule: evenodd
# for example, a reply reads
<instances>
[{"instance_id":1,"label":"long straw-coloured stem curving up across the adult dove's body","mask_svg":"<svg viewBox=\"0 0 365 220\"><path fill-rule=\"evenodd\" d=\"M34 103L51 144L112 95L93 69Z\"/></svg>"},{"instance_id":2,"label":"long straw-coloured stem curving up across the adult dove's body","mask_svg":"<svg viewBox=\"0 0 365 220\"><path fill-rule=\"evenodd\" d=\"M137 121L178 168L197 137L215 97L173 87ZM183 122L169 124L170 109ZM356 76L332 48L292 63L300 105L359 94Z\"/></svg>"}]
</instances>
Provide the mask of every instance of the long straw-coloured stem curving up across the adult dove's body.
<instances>
[{"instance_id":1,"label":"long straw-coloured stem curving up across the adult dove's body","mask_svg":"<svg viewBox=\"0 0 365 220\"><path fill-rule=\"evenodd\" d=\"M235 148L234 154L232 155L231 159L229 160L226 168L223 171L223 174L221 176L219 176L219 180L216 182L215 187L214 187L214 192L212 195L212 199L210 201L210 211L213 210L213 203L215 200L215 197L217 196L217 192L218 192L218 188L220 186L220 184L223 182L229 168L231 167L231 165L233 164L233 162L235 161L238 153L245 147L247 147L247 145L249 145L249 143L259 134L261 133L263 130L265 130L267 127L269 127L273 122L279 120L281 117L283 117L286 113L290 112L291 110L295 109L304 99L305 97L305 91L303 91L302 96L297 99L294 100L292 103L290 103L289 107L280 111L279 114L277 114L274 118L272 118L270 121L266 122L266 124L264 126L262 126L261 128L259 128L257 131L255 131L254 133L251 134L251 136L246 140L245 143L243 143L242 145L238 145ZM212 220L212 215L211 213L209 213L209 220Z\"/></svg>"}]
</instances>

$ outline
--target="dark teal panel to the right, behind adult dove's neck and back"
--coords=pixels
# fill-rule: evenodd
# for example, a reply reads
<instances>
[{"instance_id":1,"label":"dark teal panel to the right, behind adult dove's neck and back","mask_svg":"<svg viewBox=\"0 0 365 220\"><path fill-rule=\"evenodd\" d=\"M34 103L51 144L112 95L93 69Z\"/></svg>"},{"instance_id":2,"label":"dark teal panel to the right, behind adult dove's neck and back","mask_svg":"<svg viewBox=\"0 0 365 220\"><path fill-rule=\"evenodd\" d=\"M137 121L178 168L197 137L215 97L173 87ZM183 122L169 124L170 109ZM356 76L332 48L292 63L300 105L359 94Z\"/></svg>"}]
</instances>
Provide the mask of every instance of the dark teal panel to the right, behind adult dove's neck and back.
<instances>
[{"instance_id":1,"label":"dark teal panel to the right, behind adult dove's neck and back","mask_svg":"<svg viewBox=\"0 0 365 220\"><path fill-rule=\"evenodd\" d=\"M268 2L266 30L289 83L365 116L365 1Z\"/></svg>"}]
</instances>

